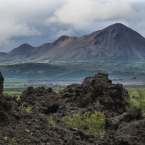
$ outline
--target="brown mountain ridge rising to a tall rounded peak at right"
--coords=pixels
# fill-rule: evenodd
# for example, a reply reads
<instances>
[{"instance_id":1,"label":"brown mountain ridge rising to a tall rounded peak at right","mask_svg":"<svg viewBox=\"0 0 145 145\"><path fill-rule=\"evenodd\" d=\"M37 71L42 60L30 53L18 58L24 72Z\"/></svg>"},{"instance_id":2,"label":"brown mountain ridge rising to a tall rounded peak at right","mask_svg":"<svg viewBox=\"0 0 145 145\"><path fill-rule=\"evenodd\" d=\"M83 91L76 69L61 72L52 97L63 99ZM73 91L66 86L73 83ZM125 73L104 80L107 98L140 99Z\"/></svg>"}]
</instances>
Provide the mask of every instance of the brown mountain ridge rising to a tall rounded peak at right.
<instances>
[{"instance_id":1,"label":"brown mountain ridge rising to a tall rounded peak at right","mask_svg":"<svg viewBox=\"0 0 145 145\"><path fill-rule=\"evenodd\" d=\"M33 62L145 60L145 38L116 23L80 38L61 36L36 48L23 44L4 56L4 59L14 58Z\"/></svg>"}]
</instances>

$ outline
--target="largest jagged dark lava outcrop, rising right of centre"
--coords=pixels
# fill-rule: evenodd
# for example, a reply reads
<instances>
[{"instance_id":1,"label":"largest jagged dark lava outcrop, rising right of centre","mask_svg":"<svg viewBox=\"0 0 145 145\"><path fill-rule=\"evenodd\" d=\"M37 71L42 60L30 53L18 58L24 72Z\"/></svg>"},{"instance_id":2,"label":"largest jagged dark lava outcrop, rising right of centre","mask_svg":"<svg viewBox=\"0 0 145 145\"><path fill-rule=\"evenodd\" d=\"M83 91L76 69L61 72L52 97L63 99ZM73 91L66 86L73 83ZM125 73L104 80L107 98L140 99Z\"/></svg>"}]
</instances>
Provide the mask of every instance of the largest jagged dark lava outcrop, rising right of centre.
<instances>
[{"instance_id":1,"label":"largest jagged dark lava outcrop, rising right of centre","mask_svg":"<svg viewBox=\"0 0 145 145\"><path fill-rule=\"evenodd\" d=\"M121 84L113 84L108 74L99 73L86 78L80 85L66 87L62 98L71 106L102 110L106 116L111 117L126 111L129 95Z\"/></svg>"}]
</instances>

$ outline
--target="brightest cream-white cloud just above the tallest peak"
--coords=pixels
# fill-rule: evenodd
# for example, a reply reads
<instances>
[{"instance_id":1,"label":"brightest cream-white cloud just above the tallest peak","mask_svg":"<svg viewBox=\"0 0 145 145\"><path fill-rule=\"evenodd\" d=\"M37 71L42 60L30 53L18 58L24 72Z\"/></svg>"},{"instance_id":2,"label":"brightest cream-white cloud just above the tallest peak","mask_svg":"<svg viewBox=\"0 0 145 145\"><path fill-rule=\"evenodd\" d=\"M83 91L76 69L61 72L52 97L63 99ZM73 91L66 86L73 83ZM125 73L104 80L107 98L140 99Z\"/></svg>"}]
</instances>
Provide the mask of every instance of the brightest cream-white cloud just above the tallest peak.
<instances>
[{"instance_id":1,"label":"brightest cream-white cloud just above the tallest peak","mask_svg":"<svg viewBox=\"0 0 145 145\"><path fill-rule=\"evenodd\" d=\"M82 25L94 21L127 19L133 15L134 11L127 1L68 0L48 22Z\"/></svg>"}]
</instances>

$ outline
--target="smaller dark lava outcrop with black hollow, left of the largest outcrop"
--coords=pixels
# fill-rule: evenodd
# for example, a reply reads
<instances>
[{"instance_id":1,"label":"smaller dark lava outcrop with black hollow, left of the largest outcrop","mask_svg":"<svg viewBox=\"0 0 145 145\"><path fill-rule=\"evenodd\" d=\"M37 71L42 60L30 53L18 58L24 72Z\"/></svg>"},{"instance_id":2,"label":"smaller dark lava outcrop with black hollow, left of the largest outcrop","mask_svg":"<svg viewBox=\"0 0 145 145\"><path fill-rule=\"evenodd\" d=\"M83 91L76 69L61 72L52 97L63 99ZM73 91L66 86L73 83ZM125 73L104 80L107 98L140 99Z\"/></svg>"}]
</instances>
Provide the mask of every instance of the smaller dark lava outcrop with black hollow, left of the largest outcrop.
<instances>
[{"instance_id":1,"label":"smaller dark lava outcrop with black hollow, left of the largest outcrop","mask_svg":"<svg viewBox=\"0 0 145 145\"><path fill-rule=\"evenodd\" d=\"M27 97L29 96L29 97ZM32 107L33 110L43 114L57 112L59 108L59 99L52 88L28 87L21 95L20 103L24 103L25 107Z\"/></svg>"}]
</instances>

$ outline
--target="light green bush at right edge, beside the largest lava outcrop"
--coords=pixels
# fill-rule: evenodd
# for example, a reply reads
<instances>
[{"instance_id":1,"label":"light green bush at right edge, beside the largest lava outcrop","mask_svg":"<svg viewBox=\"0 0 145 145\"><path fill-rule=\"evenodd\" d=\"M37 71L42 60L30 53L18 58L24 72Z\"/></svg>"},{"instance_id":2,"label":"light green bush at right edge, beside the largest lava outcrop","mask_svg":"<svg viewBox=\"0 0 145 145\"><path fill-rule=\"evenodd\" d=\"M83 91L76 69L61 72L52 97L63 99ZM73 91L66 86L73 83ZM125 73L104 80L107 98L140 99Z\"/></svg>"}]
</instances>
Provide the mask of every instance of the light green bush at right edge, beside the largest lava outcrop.
<instances>
[{"instance_id":1,"label":"light green bush at right edge, beside the largest lava outcrop","mask_svg":"<svg viewBox=\"0 0 145 145\"><path fill-rule=\"evenodd\" d=\"M128 93L130 105L141 108L143 115L145 115L145 88L130 88Z\"/></svg>"}]
</instances>

